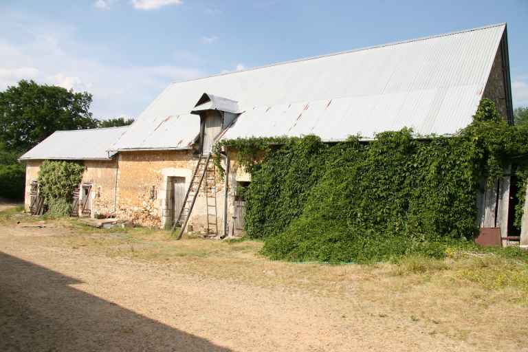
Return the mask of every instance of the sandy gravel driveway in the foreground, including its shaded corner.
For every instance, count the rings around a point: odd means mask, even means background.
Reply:
[[[0,228],[0,351],[476,351],[404,315],[41,243]]]

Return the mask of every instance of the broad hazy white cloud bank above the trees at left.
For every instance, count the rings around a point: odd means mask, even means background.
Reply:
[[[190,53],[186,62],[115,64],[105,59],[111,50],[78,40],[74,28],[28,17],[0,22],[0,30],[8,28],[17,38],[0,38],[0,91],[21,79],[86,90],[94,96],[91,111],[97,118],[137,116],[169,83],[206,75]]]

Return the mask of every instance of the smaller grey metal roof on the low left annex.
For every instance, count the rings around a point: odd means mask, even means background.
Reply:
[[[110,159],[108,150],[129,126],[107,129],[56,131],[20,157],[29,159],[99,160]]]

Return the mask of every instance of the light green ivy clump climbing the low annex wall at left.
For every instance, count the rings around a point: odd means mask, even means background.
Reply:
[[[72,194],[83,178],[85,167],[76,162],[45,160],[39,170],[39,188],[54,216],[69,214]]]

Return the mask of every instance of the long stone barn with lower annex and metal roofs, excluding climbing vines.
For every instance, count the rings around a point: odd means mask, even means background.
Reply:
[[[236,151],[222,153],[219,177],[210,157],[219,140],[369,140],[403,127],[456,135],[482,98],[513,123],[505,23],[173,83],[129,127],[57,132],[23,155],[26,208],[42,160],[76,159],[86,166],[80,197],[92,199],[85,214],[236,236],[244,213],[236,188],[251,179]],[[483,184],[481,228],[507,237],[510,190],[507,173],[496,187]]]

